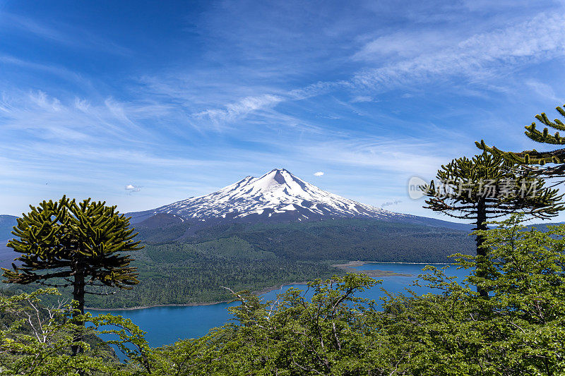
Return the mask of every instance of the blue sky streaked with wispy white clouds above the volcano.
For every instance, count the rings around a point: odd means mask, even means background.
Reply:
[[[0,0],[0,213],[63,193],[146,210],[285,167],[434,217],[408,198],[411,176],[482,138],[543,149],[523,126],[564,104],[564,11]]]

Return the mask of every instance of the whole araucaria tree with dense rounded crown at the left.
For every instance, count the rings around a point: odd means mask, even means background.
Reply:
[[[84,313],[87,286],[131,289],[138,284],[130,251],[141,249],[129,217],[105,202],[76,202],[65,196],[57,202],[43,201],[18,219],[8,243],[21,265],[5,269],[4,282],[73,286],[78,313]],[[73,349],[76,351],[76,349]]]

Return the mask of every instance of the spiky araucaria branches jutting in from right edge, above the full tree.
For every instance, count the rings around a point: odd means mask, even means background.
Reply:
[[[565,105],[564,105],[565,107]],[[556,107],[557,112],[565,118],[565,109],[563,107]],[[542,131],[538,131],[535,122],[529,126],[525,126],[525,135],[535,142],[540,142],[549,145],[565,145],[565,137],[559,134],[559,131],[565,131],[565,123],[559,119],[554,121],[549,120],[545,112],[536,115],[535,119],[540,121],[546,127]],[[549,134],[549,129],[557,132]],[[552,150],[550,152],[538,152],[537,150],[524,150],[523,152],[504,152],[494,146],[488,146],[484,140],[475,142],[475,145],[480,150],[490,152],[494,155],[503,157],[513,164],[520,164],[523,166],[545,166],[545,164],[558,164],[558,166],[549,166],[546,168],[533,169],[539,173],[549,176],[565,176],[565,148]],[[531,169],[531,168],[530,168]]]

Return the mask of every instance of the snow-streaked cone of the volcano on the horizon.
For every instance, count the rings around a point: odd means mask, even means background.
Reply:
[[[143,217],[160,213],[201,221],[260,218],[304,221],[322,217],[328,219],[409,217],[326,192],[297,178],[285,169],[273,169],[258,178],[247,176],[209,195],[188,198],[155,210],[148,210],[143,213],[145,214]]]

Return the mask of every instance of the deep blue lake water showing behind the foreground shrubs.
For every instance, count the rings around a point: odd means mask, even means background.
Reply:
[[[374,299],[379,301],[384,296],[381,288],[391,293],[400,293],[410,288],[419,294],[431,291],[426,287],[410,286],[412,281],[417,279],[418,274],[422,274],[422,264],[391,264],[381,262],[371,262],[357,269],[379,269],[388,270],[402,274],[411,274],[410,277],[391,276],[382,277],[382,284],[374,286],[364,293],[358,293],[357,296],[363,298]],[[446,265],[434,265],[435,267],[444,267]],[[448,267],[446,274],[458,277],[458,281],[462,281],[468,271],[465,269],[456,270],[455,266]],[[306,289],[305,285],[288,285],[283,289],[273,290],[263,297],[266,300],[273,300],[278,293],[282,293],[290,287],[297,289]],[[121,315],[131,319],[136,325],[148,332],[146,339],[151,346],[162,346],[172,344],[178,339],[195,338],[208,333],[213,327],[220,327],[230,320],[231,316],[227,312],[227,308],[238,303],[218,303],[211,305],[194,305],[181,307],[153,307],[138,310],[107,310],[103,313],[112,313],[113,315]],[[100,311],[90,311],[93,315],[97,315]]]

